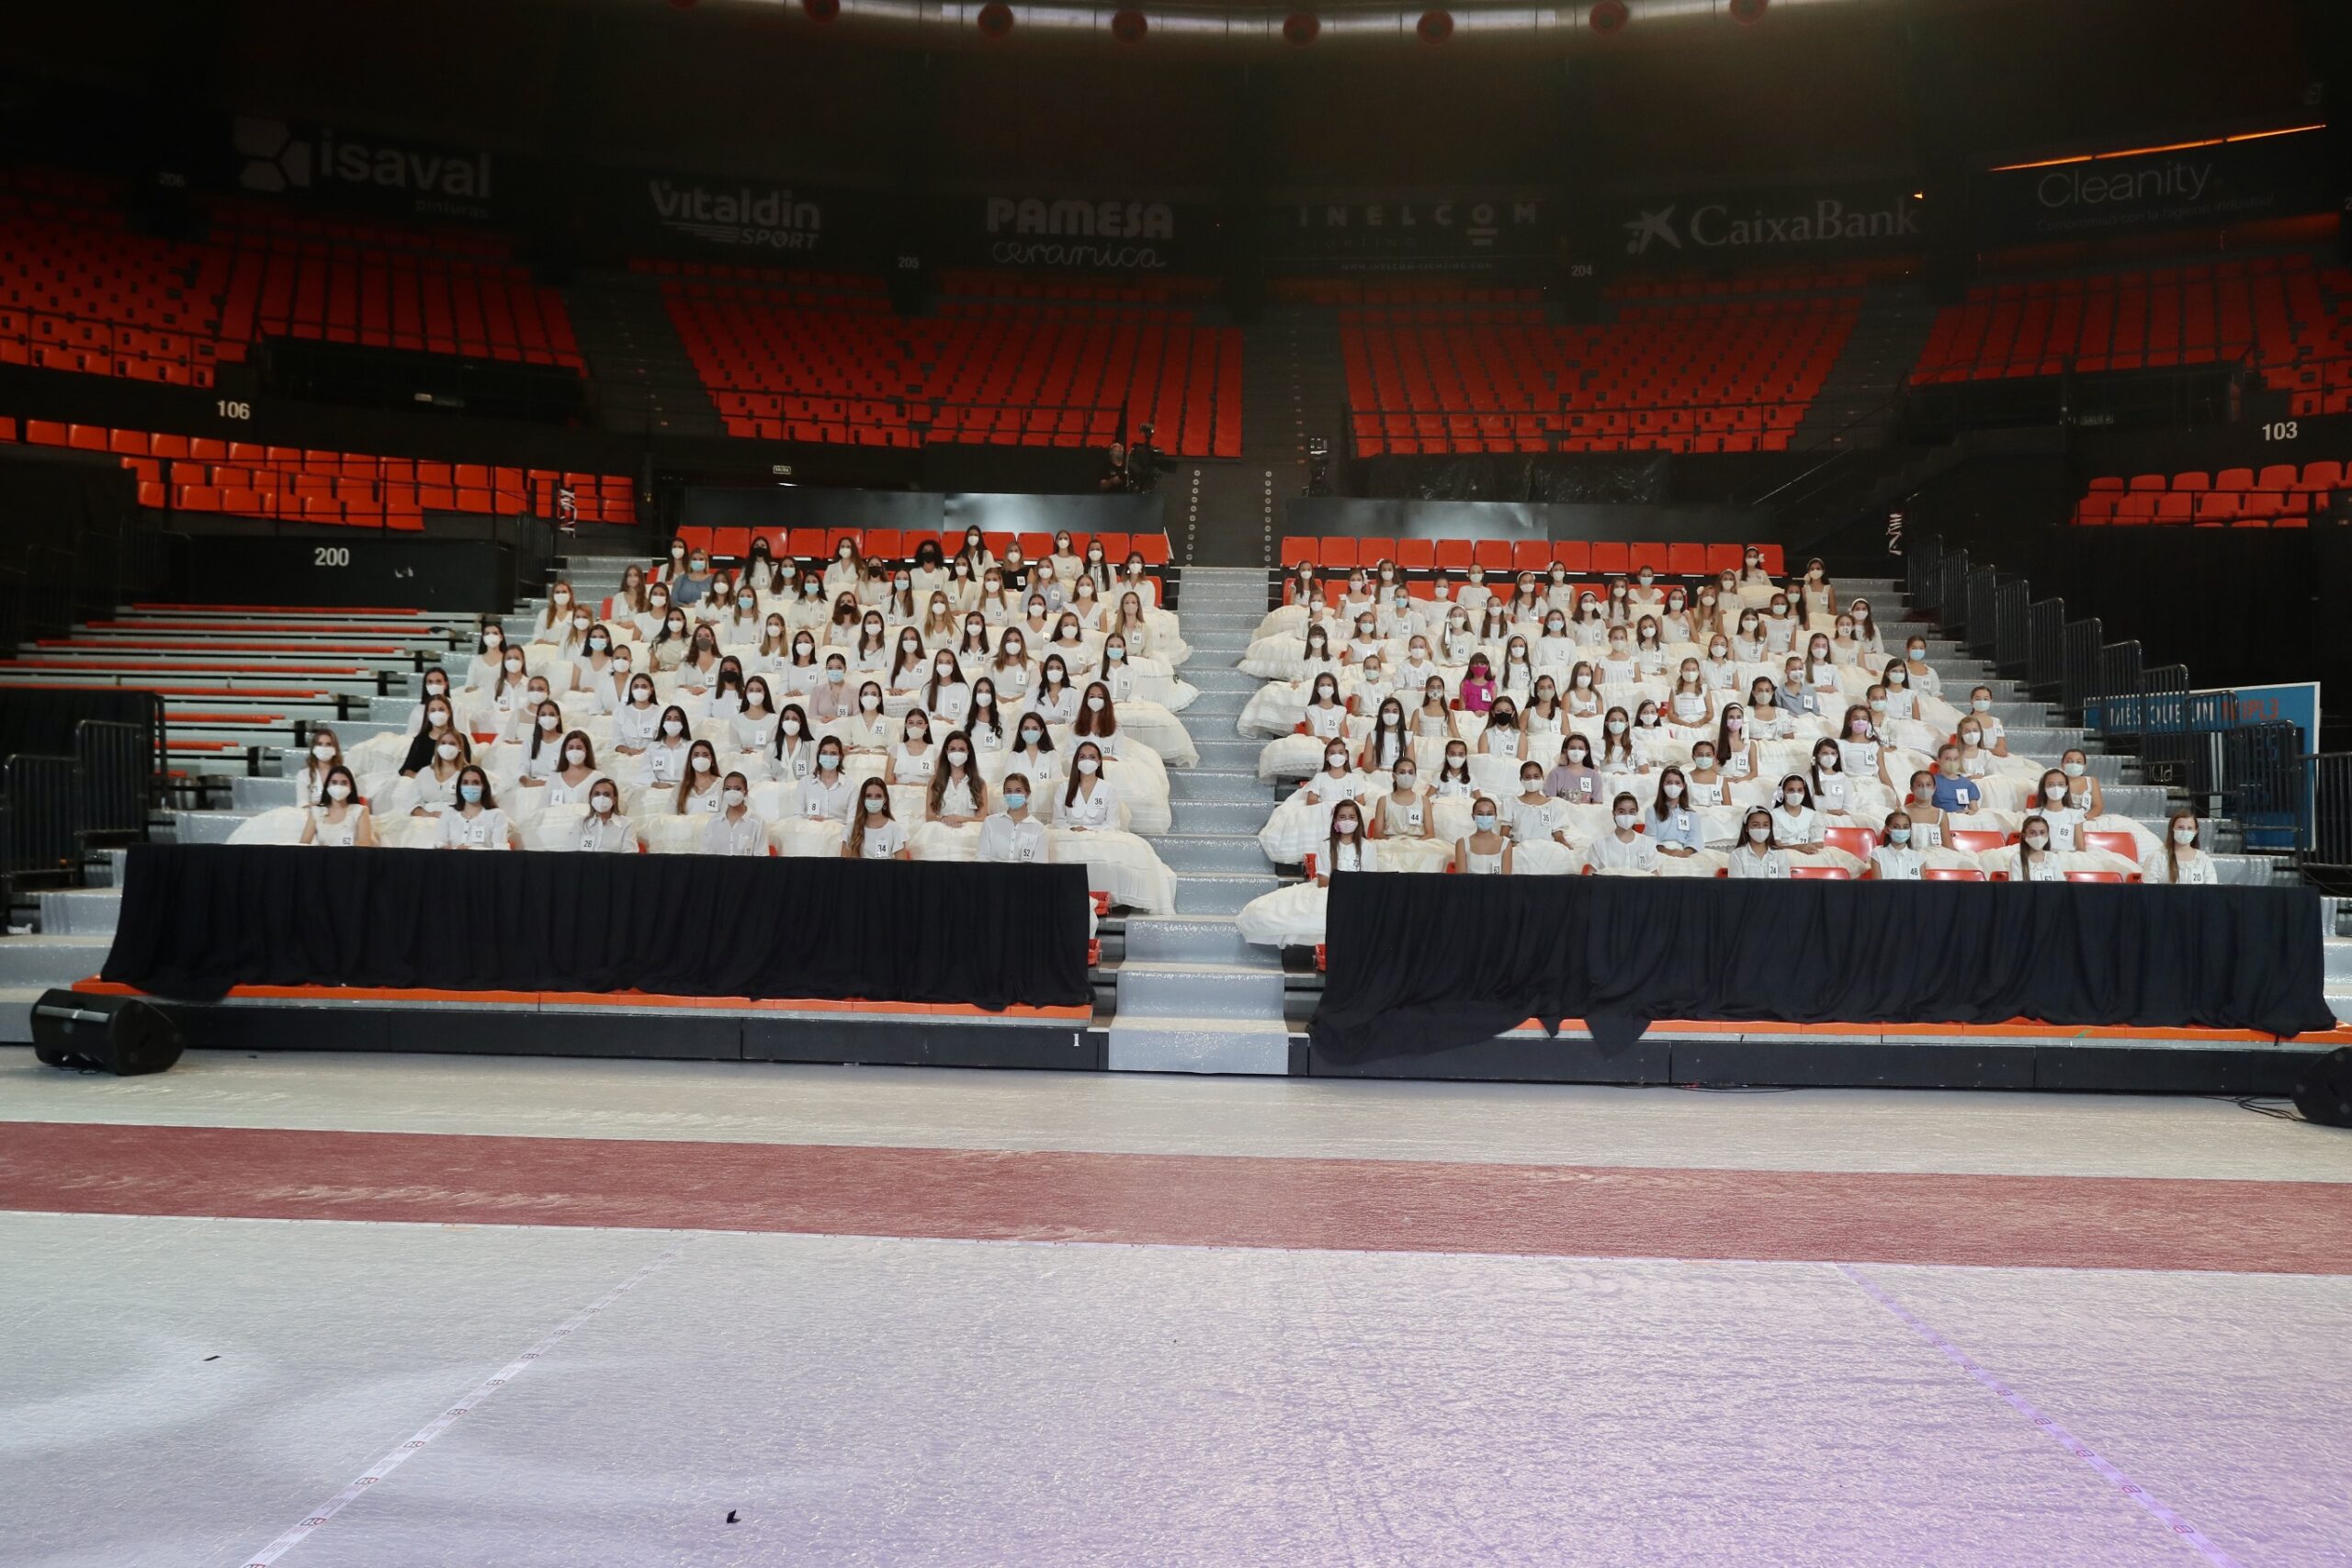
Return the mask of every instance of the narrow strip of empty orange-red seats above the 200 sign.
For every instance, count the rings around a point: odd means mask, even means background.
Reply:
[[[0,440],[12,437],[0,425]],[[557,494],[569,489],[579,522],[637,522],[626,475],[263,447],[47,418],[24,421],[24,442],[113,454],[139,475],[141,505],[179,512],[414,531],[426,512],[555,517]]]

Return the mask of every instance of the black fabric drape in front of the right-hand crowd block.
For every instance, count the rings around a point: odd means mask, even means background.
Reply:
[[[1536,1018],[2331,1030],[2319,896],[2270,886],[1334,877],[1315,1046],[1446,1051]]]

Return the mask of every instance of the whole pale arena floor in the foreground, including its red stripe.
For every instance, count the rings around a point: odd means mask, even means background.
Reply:
[[[7,1051],[0,1561],[2352,1563],[2347,1276],[2213,1100]]]

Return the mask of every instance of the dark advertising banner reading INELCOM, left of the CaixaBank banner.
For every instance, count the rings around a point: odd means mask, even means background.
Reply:
[[[1265,256],[1291,273],[1482,273],[1548,263],[1557,233],[1543,197],[1287,202],[1265,214]]]

